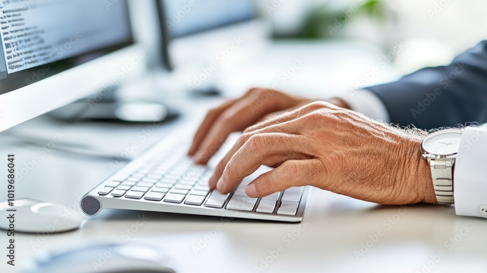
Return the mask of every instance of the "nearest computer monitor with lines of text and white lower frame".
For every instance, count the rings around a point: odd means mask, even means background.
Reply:
[[[0,132],[103,89],[140,61],[127,0],[0,3]]]

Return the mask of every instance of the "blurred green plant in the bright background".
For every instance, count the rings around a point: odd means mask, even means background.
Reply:
[[[311,12],[297,38],[331,38],[356,16],[382,21],[386,12],[383,0],[357,0],[341,10],[325,3]]]

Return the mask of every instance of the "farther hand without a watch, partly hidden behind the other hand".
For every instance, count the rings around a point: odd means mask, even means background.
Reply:
[[[251,89],[242,98],[230,100],[206,114],[188,155],[194,156],[197,164],[206,164],[230,133],[243,131],[259,120],[295,110],[313,101],[271,89]],[[330,99],[330,102],[346,107],[338,99]]]

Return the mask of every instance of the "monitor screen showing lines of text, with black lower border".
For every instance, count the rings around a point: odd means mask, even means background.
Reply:
[[[0,28],[0,95],[132,43],[124,0],[2,0]]]

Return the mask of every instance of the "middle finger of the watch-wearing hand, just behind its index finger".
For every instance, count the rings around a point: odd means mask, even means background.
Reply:
[[[287,134],[293,135],[293,134],[297,134],[300,128],[297,127],[297,126],[295,126],[292,123],[293,122],[288,121],[288,122],[284,122],[284,123],[280,123],[280,124],[275,124],[275,125],[267,126],[265,128],[262,128],[262,129],[259,129],[259,130],[256,130],[256,131],[252,131],[252,132],[249,132],[249,133],[244,133],[242,136],[239,137],[239,139],[237,140],[237,142],[235,142],[235,144],[233,145],[233,147],[230,150],[228,150],[228,152],[220,160],[220,162],[218,162],[215,170],[213,171],[213,175],[208,179],[208,186],[211,189],[216,188],[217,181],[220,178],[220,176],[222,176],[223,171],[225,169],[225,166],[228,164],[228,162],[230,161],[230,159],[232,158],[232,156],[242,146],[244,146],[244,144],[252,136],[254,136],[256,134],[269,134],[269,133],[281,134],[284,131],[286,132],[286,134],[282,134],[282,135],[287,135]],[[245,131],[247,131],[247,130],[245,130]],[[276,135],[276,136],[278,136],[278,135]],[[276,140],[276,141],[279,142],[279,140]],[[277,163],[280,163],[280,162],[277,162]]]

